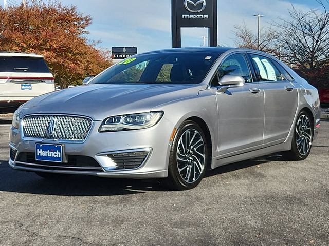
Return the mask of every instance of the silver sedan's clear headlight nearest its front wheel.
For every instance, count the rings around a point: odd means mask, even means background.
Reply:
[[[113,116],[105,119],[99,132],[116,132],[149,128],[157,124],[163,112]]]

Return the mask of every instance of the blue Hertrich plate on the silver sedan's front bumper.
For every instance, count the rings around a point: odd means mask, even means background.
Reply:
[[[35,145],[35,160],[62,162],[62,146],[36,144]]]

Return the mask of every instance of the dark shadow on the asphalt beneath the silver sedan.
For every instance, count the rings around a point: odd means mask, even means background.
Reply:
[[[223,174],[270,161],[281,160],[269,155],[218,167],[206,177]],[[63,175],[61,179],[47,180],[31,172],[13,170],[7,161],[0,160],[0,191],[61,196],[114,196],[166,191],[157,180],[109,179],[83,175]]]

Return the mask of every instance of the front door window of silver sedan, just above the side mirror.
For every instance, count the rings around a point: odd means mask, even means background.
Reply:
[[[231,55],[224,60],[218,68],[220,79],[225,75],[237,75],[245,79],[246,83],[252,82],[248,63],[244,54]]]

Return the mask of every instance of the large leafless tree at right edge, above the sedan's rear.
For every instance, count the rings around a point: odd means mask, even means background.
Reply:
[[[316,1],[322,11],[303,12],[293,6],[289,19],[275,23],[282,58],[304,75],[329,65],[329,12],[322,0]]]

